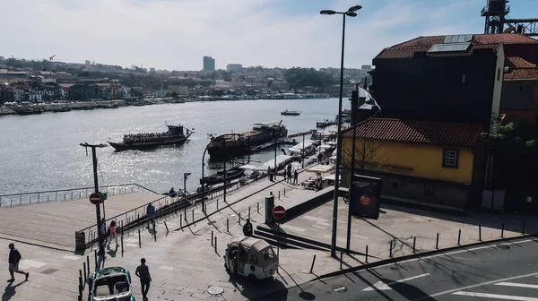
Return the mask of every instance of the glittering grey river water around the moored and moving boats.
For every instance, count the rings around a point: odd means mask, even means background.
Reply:
[[[349,107],[349,101],[344,100],[345,105]],[[298,109],[302,113],[281,116],[285,109]],[[86,156],[79,143],[121,141],[125,133],[164,132],[165,121],[194,128],[195,133],[181,146],[120,152],[112,147],[98,149],[100,185],[136,183],[168,192],[171,186],[182,188],[183,173],[189,172],[192,176],[187,180],[187,190],[192,190],[199,185],[208,133],[239,133],[257,122],[278,120],[286,125],[289,134],[306,132],[315,128],[317,121],[333,119],[337,113],[338,99],[294,99],[191,102],[0,116],[0,194],[92,186],[91,149]],[[288,147],[291,146],[284,148]],[[273,159],[273,154],[273,150],[264,150],[250,159],[264,163]],[[205,167],[207,175],[221,165],[210,163]]]

